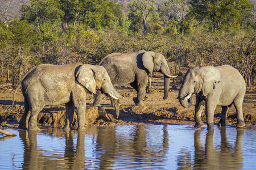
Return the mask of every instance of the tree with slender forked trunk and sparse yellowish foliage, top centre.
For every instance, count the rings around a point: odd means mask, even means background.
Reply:
[[[129,6],[131,8],[130,13],[136,13],[137,16],[139,15],[139,18],[142,18],[143,22],[143,35],[146,34],[147,29],[147,19],[148,16],[151,14],[152,11],[156,11],[157,8],[155,7],[155,1],[152,0],[136,0],[131,1],[129,3]]]

